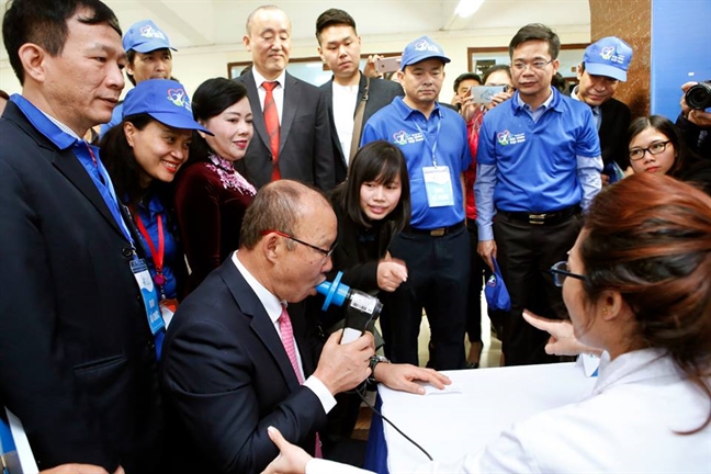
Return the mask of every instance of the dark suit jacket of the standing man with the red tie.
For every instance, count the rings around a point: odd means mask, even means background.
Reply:
[[[248,72],[236,79],[247,87],[252,110],[255,136],[245,158],[237,162],[250,182],[261,188],[271,180],[272,155],[255,76]],[[293,179],[330,191],[334,179],[334,155],[330,145],[328,110],[321,91],[286,72],[284,109],[279,136],[279,170]]]

